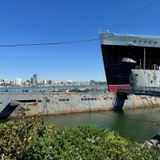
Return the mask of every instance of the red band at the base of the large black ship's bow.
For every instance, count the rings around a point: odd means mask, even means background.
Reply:
[[[109,92],[117,92],[120,89],[124,90],[130,90],[131,86],[129,84],[119,84],[119,85],[108,85],[108,91]]]

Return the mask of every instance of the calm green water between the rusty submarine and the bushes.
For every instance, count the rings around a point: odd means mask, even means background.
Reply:
[[[124,112],[92,112],[43,117],[56,128],[96,125],[118,132],[122,137],[144,142],[160,131],[160,109],[127,110]]]

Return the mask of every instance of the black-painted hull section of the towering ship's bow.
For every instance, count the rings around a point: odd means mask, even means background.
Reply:
[[[106,44],[101,45],[109,91],[123,89],[123,86],[125,86],[124,89],[127,89],[127,85],[128,89],[130,88],[129,75],[131,69],[143,68],[144,48],[146,51],[145,68],[152,69],[154,64],[160,65],[160,48]],[[136,63],[122,62],[124,57],[133,59]]]

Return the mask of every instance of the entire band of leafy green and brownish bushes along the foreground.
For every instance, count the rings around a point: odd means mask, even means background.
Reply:
[[[97,127],[55,130],[41,119],[0,124],[1,159],[156,160],[159,153]]]

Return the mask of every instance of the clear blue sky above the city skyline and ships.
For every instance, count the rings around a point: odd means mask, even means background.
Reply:
[[[0,45],[79,41],[99,33],[160,35],[159,0],[0,0]],[[0,47],[0,78],[106,80],[99,40]]]

